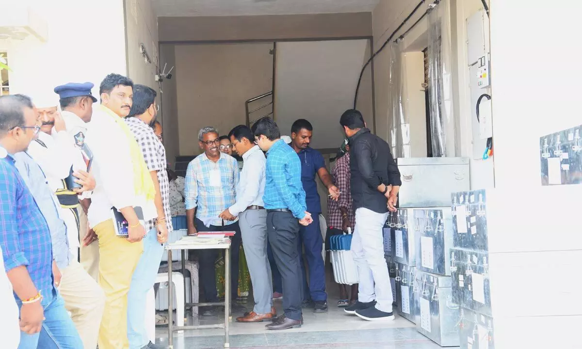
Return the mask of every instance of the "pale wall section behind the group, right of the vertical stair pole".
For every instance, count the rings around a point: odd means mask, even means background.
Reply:
[[[353,108],[366,46],[367,40],[277,43],[275,117],[282,134],[307,119],[314,129],[311,147],[339,148],[345,138],[339,118]],[[365,121],[371,128],[370,114]]]

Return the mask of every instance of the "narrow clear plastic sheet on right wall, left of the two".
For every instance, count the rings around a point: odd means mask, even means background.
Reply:
[[[390,54],[388,103],[391,151],[395,158],[410,158],[410,122],[406,112],[407,100],[403,99],[406,69],[401,45],[391,44]]]

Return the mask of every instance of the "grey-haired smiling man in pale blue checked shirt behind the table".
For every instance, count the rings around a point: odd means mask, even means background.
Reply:
[[[223,220],[219,215],[235,203],[236,186],[239,183],[239,166],[235,158],[219,151],[220,138],[214,127],[204,127],[198,132],[198,145],[203,154],[194,158],[186,170],[186,220],[188,234],[201,232],[234,231],[230,244],[230,297],[236,299],[239,285],[240,229],[238,219]],[[217,250],[200,250],[200,283],[204,290],[205,302],[218,302],[214,263]],[[226,281],[228,282],[228,280]],[[229,295],[225,294],[225,297]],[[246,309],[231,302],[232,312]],[[209,307],[203,316],[217,314],[215,307]]]

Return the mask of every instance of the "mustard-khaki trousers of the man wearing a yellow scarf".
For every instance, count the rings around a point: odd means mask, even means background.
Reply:
[[[116,236],[111,219],[99,223],[93,230],[99,238],[99,284],[105,292],[99,349],[128,349],[127,293],[143,243],[129,243]]]

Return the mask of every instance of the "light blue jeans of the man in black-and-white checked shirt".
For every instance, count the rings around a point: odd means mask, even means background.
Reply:
[[[130,349],[141,349],[150,343],[145,329],[145,298],[158,276],[164,247],[158,243],[158,231],[152,229],[143,238],[144,252],[133,272],[127,293],[127,340]]]

